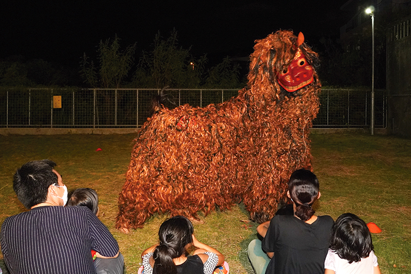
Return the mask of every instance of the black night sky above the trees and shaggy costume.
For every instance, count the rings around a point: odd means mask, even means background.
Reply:
[[[22,55],[78,67],[83,52],[92,56],[100,40],[137,43],[149,50],[157,31],[175,28],[179,45],[210,60],[246,57],[254,40],[278,29],[302,31],[315,46],[322,36],[338,38],[346,22],[346,0],[287,1],[21,1],[0,4],[0,59]]]

